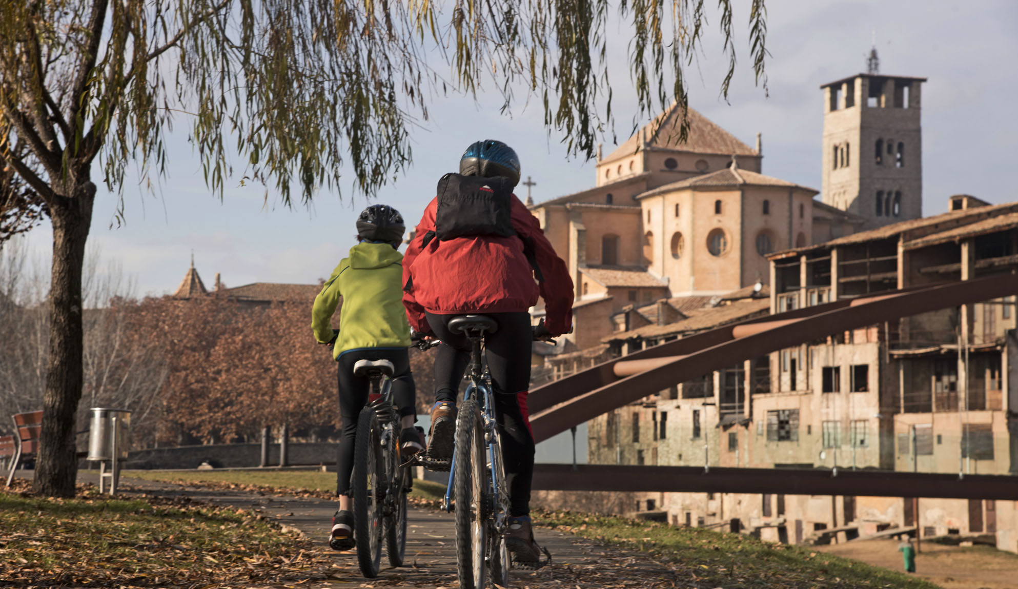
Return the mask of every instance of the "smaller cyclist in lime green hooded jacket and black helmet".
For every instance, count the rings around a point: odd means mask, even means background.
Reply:
[[[392,394],[402,417],[400,448],[408,457],[423,450],[421,434],[413,426],[416,402],[407,348],[410,327],[403,307],[403,254],[397,251],[403,239],[403,218],[385,204],[365,209],[357,219],[357,244],[350,248],[315,298],[312,328],[320,344],[333,347],[339,364],[339,410],[343,419],[336,473],[339,511],[332,519],[329,546],[348,550],[354,546],[353,514],[350,511],[350,474],[357,416],[367,402],[371,384],[355,376],[358,360],[389,360],[394,366]],[[340,298],[339,333],[330,319]]]

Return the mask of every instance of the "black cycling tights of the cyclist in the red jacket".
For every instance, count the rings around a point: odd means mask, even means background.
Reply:
[[[499,329],[485,337],[488,369],[495,389],[495,417],[502,433],[502,456],[509,483],[510,515],[530,513],[533,478],[533,435],[526,412],[530,387],[530,315],[525,311],[484,313]],[[470,344],[463,334],[453,334],[447,322],[458,315],[428,313],[428,323],[442,340],[435,358],[435,400],[455,401],[463,372],[470,363]]]

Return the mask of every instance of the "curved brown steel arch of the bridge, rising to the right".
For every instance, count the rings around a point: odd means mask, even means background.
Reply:
[[[1016,293],[1018,275],[998,275],[881,293],[869,299],[836,301],[768,315],[662,344],[535,389],[530,402],[533,437],[535,441],[543,441],[574,425],[646,397],[652,392],[692,380],[747,358],[831,334]],[[745,334],[744,337],[735,337],[736,330],[754,323],[772,326],[760,331],[740,330],[740,335]],[[620,362],[663,356],[680,357],[631,376],[618,377],[615,374],[615,367]],[[553,387],[556,385],[557,387]]]

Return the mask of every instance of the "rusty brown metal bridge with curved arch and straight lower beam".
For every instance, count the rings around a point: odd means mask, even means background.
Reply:
[[[536,441],[704,372],[824,339],[832,334],[1018,293],[1018,275],[1001,274],[842,299],[746,320],[609,360],[534,389]],[[770,492],[1018,499],[1018,476],[900,471],[536,465],[534,489]]]

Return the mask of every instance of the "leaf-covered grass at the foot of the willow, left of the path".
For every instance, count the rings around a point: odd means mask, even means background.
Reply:
[[[0,492],[0,579],[41,587],[245,587],[325,579],[310,542],[264,518],[186,500]],[[20,490],[20,489],[18,489]]]

